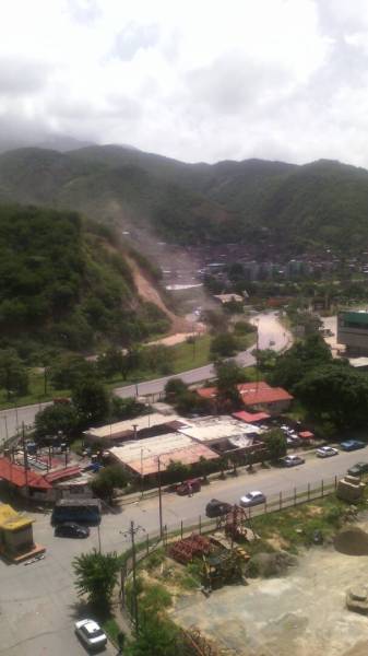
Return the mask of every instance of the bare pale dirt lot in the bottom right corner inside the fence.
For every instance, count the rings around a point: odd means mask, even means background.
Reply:
[[[367,555],[314,547],[286,577],[228,586],[209,599],[195,593],[178,599],[173,614],[242,656],[363,656],[368,618],[345,608],[346,589],[359,584],[368,584]]]

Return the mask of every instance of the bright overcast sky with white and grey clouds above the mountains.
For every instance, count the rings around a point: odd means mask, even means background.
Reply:
[[[0,0],[0,131],[368,167],[368,0]]]

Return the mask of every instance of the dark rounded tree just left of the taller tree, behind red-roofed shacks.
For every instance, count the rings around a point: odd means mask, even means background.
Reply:
[[[43,440],[57,435],[59,431],[71,437],[78,425],[78,415],[72,403],[54,403],[37,412],[35,417],[35,436]]]

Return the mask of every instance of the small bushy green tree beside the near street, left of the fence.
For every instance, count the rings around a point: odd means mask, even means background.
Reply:
[[[82,553],[72,561],[80,597],[86,595],[88,601],[100,609],[109,608],[114,587],[117,583],[120,563],[116,553]]]

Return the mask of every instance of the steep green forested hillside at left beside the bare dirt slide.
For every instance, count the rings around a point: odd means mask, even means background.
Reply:
[[[167,329],[103,234],[74,212],[0,207],[0,348],[88,352]]]

